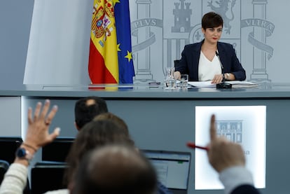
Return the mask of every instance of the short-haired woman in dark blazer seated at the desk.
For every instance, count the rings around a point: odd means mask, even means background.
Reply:
[[[202,33],[205,36],[200,43],[186,45],[181,60],[175,67],[174,78],[188,74],[189,81],[244,81],[246,71],[235,55],[233,46],[219,42],[223,31],[221,15],[209,12],[202,17]]]

